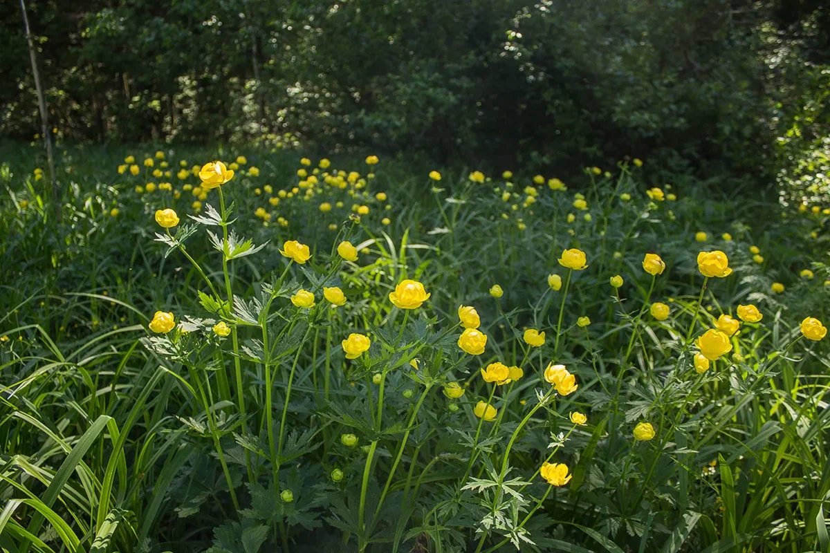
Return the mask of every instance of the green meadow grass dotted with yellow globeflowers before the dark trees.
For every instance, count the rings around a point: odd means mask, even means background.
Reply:
[[[59,153],[60,225],[0,145],[3,551],[828,551],[826,206]]]

